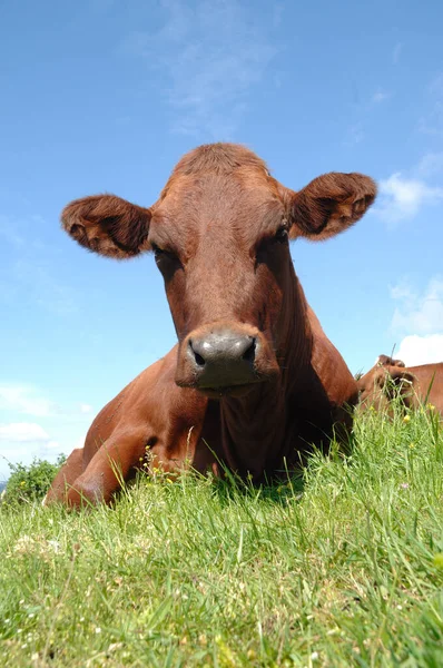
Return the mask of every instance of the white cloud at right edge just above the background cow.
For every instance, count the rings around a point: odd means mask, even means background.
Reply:
[[[400,283],[391,288],[391,296],[400,302],[391,323],[393,332],[415,336],[443,334],[442,277],[432,278],[423,293]]]

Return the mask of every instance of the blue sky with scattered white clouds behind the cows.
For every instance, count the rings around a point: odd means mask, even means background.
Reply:
[[[0,27],[0,452],[78,446],[95,414],[175,342],[151,256],[88,254],[70,199],[149,206],[178,158],[246,144],[297,189],[380,184],[373,210],[295,268],[353,372],[443,358],[443,4],[405,0],[41,0]],[[0,480],[8,474],[0,456]]]

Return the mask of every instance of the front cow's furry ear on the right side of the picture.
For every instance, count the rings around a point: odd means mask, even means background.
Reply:
[[[363,174],[331,171],[291,197],[291,238],[327,239],[361,218],[375,199],[375,181]]]

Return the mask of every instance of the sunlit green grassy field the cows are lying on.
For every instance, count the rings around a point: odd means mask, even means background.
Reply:
[[[443,431],[360,418],[352,458],[112,509],[0,509],[0,665],[443,666]]]

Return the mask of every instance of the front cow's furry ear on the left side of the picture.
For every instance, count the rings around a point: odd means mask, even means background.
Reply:
[[[115,195],[75,199],[61,213],[66,232],[99,255],[126,259],[150,250],[151,212]]]

